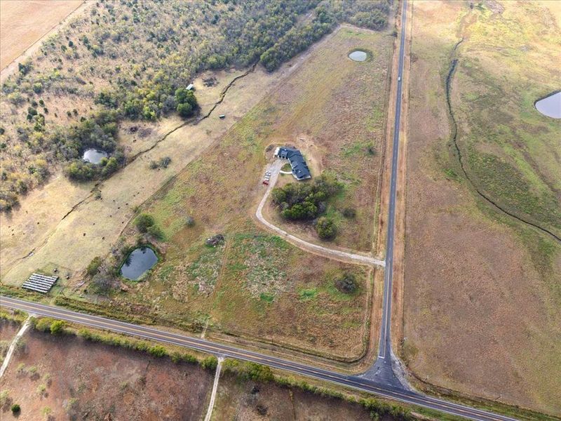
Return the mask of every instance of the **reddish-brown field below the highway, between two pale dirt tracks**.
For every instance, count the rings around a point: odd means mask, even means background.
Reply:
[[[2,420],[200,420],[212,376],[199,366],[30,330],[0,387]]]

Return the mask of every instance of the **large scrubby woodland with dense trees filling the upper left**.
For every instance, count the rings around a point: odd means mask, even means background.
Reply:
[[[259,60],[273,70],[338,22],[379,29],[389,11],[390,1],[363,0],[98,1],[2,83],[0,209],[60,163],[71,161],[75,180],[115,171],[118,154],[93,166],[81,162],[83,147],[111,152],[121,119],[192,116],[196,98],[184,86],[198,72]],[[86,119],[79,105],[110,113],[109,126],[74,126]]]

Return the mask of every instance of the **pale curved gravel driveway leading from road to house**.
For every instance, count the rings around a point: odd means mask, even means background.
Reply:
[[[277,234],[280,234],[280,236],[282,236],[283,239],[285,239],[286,241],[294,244],[298,248],[302,248],[302,250],[309,251],[310,253],[316,253],[325,258],[332,258],[334,260],[342,260],[344,262],[358,263],[359,265],[374,265],[379,267],[385,267],[386,262],[384,262],[384,260],[378,260],[372,258],[371,256],[359,255],[356,253],[347,253],[346,251],[342,251],[342,250],[333,250],[332,248],[327,248],[323,246],[318,246],[317,244],[309,243],[308,241],[299,239],[297,236],[288,234],[288,232],[284,231],[283,229],[280,229],[276,225],[271,224],[271,222],[263,218],[263,206],[265,206],[265,203],[269,198],[269,195],[271,194],[273,187],[275,187],[276,180],[278,179],[278,174],[280,172],[280,168],[283,166],[283,163],[284,163],[283,161],[277,159],[268,168],[269,171],[271,171],[271,182],[269,184],[269,187],[266,189],[266,192],[263,195],[263,199],[261,199],[259,206],[257,206],[257,212],[255,213],[255,216],[257,217],[259,222],[261,222],[263,225],[273,230]]]

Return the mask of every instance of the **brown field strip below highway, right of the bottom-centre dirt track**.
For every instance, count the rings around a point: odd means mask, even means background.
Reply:
[[[368,410],[356,403],[313,396],[295,387],[240,380],[225,373],[220,377],[211,420],[367,421],[372,418]]]

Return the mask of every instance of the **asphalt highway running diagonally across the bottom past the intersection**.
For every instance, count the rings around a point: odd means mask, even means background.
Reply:
[[[263,364],[264,366],[286,370],[297,375],[313,377],[318,380],[332,382],[336,385],[351,387],[363,392],[377,394],[378,396],[382,396],[384,398],[411,403],[413,405],[422,406],[424,408],[431,408],[442,413],[466,417],[471,420],[514,420],[514,418],[511,417],[489,413],[485,410],[476,408],[470,408],[458,403],[442,401],[440,399],[433,398],[432,396],[425,396],[417,392],[410,392],[403,389],[393,388],[388,385],[381,385],[364,377],[337,373],[336,371],[316,368],[313,366],[308,366],[304,363],[288,361],[285,359],[277,358],[275,356],[269,356],[260,354],[259,352],[252,352],[246,349],[231,347],[229,345],[223,345],[217,342],[203,340],[201,338],[193,338],[187,335],[180,335],[178,333],[170,333],[161,329],[139,326],[123,321],[105,319],[104,317],[100,316],[73,312],[67,309],[62,309],[60,307],[43,305],[36,302],[27,302],[24,300],[18,300],[15,298],[4,296],[0,296],[0,306],[19,309],[34,316],[52,317],[54,319],[65,320],[70,323],[78,323],[83,326],[89,326],[90,328],[110,330],[112,332],[133,335],[138,338],[147,340],[165,342],[172,345],[178,345],[180,347],[196,349],[201,352],[206,352],[215,356],[222,356],[224,358],[251,361],[253,363]]]

